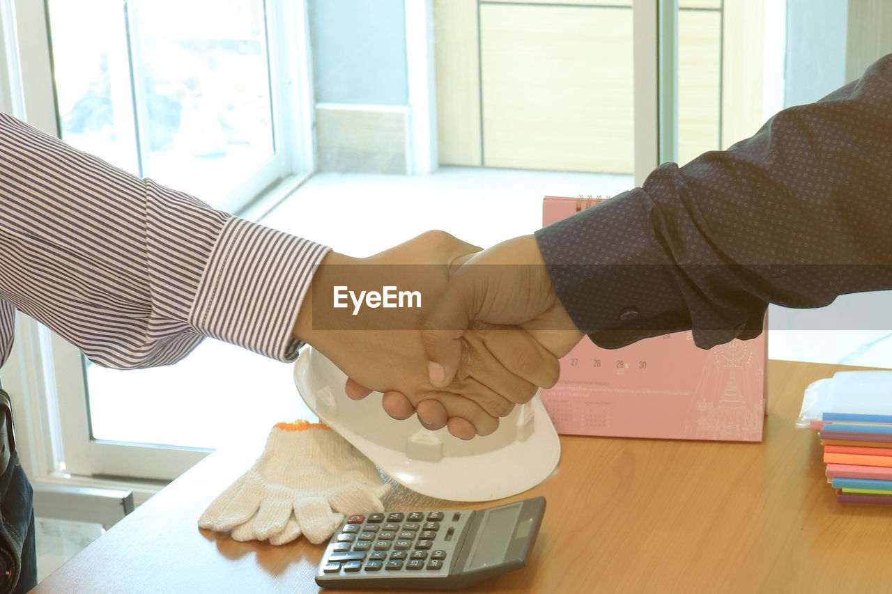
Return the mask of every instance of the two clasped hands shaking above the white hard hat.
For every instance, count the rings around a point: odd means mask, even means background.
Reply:
[[[469,440],[558,381],[582,333],[551,285],[533,235],[488,250],[428,231],[368,258],[330,252],[293,337],[341,367],[354,400]]]

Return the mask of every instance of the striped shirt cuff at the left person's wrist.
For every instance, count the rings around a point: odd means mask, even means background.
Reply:
[[[245,219],[228,219],[189,323],[202,334],[280,361],[297,359],[294,322],[329,248]]]

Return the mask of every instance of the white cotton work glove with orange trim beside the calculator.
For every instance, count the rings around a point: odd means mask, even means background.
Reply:
[[[211,502],[198,525],[235,540],[327,540],[346,514],[384,511],[391,486],[371,460],[326,425],[279,423],[254,466]]]

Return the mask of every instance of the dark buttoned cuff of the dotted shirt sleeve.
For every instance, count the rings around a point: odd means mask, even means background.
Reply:
[[[656,215],[637,188],[536,232],[558,299],[600,347],[691,327]]]

